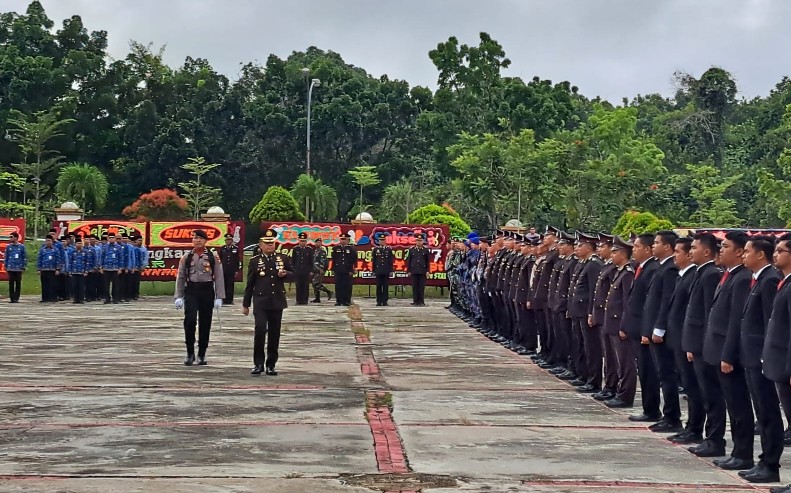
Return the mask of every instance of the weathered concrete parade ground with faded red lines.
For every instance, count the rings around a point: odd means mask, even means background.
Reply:
[[[292,306],[278,376],[250,375],[239,303],[222,331],[215,317],[205,367],[182,365],[169,298],[4,303],[0,492],[768,489],[629,422],[638,408],[578,394],[446,302]]]

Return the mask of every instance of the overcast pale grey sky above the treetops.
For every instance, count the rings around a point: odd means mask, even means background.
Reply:
[[[23,12],[27,0],[0,0]],[[333,50],[370,74],[435,87],[428,51],[449,36],[505,48],[508,75],[568,80],[589,97],[672,95],[677,70],[730,71],[744,97],[791,75],[791,0],[43,0],[57,26],[74,14],[129,41],[167,45],[166,61],[208,59],[231,78],[240,64]]]

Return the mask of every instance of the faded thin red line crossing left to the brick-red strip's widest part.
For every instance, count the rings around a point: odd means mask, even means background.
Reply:
[[[0,425],[0,430],[19,429],[80,429],[80,428],[228,428],[232,426],[366,426],[356,422],[320,422],[320,421],[94,421],[90,423],[38,423],[24,422]]]

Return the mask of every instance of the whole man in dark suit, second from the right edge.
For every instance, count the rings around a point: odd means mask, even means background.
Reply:
[[[774,382],[763,374],[761,361],[780,282],[780,274],[772,267],[774,250],[775,239],[771,236],[753,236],[744,249],[744,266],[752,272],[752,279],[741,317],[739,360],[747,374],[747,387],[758,419],[761,454],[758,464],[749,471],[739,471],[739,476],[751,483],[780,481],[780,456],[783,455],[780,400]]]

